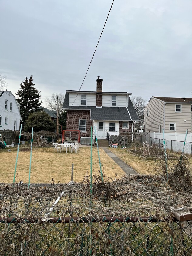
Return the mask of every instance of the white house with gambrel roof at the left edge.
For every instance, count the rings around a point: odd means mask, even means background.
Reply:
[[[20,104],[10,91],[0,91],[0,130],[19,130]]]

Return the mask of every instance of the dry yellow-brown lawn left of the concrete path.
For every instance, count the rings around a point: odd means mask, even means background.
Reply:
[[[0,182],[13,182],[17,147],[0,150]],[[25,151],[26,150],[26,151]],[[106,176],[115,178],[122,177],[124,171],[102,150],[99,149],[102,170]],[[20,145],[17,162],[16,181],[23,180],[28,183],[30,162],[30,145]],[[49,183],[52,178],[55,182],[69,182],[71,179],[71,167],[74,163],[73,180],[81,182],[85,175],[90,174],[90,147],[80,147],[79,153],[54,153],[54,148],[33,147],[31,164],[31,183]],[[99,162],[97,149],[93,147],[92,157],[93,174],[98,173]]]

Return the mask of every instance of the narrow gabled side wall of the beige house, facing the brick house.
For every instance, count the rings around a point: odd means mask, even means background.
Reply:
[[[151,97],[144,109],[145,131],[162,132],[164,128],[164,102]],[[161,130],[160,130],[161,127]]]

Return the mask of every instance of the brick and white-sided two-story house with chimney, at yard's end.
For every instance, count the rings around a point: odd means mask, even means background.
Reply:
[[[81,137],[90,137],[91,126],[95,126],[99,139],[105,139],[107,133],[134,131],[138,116],[129,97],[131,93],[103,92],[102,81],[98,76],[96,91],[66,91],[66,130],[80,130]]]

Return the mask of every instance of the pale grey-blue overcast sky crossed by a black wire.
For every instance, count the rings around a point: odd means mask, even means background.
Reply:
[[[44,100],[79,90],[112,0],[0,0],[0,73]],[[192,97],[192,1],[115,0],[81,90]]]

